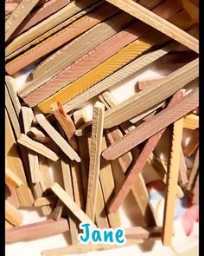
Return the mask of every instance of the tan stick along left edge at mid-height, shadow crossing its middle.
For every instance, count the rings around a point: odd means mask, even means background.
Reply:
[[[5,155],[6,155],[6,167],[10,168],[21,179],[23,185],[16,188],[16,193],[22,207],[31,207],[34,202],[33,194],[31,193],[24,169],[22,167],[22,161],[18,153],[16,140],[10,126],[10,120],[7,112],[5,111]]]

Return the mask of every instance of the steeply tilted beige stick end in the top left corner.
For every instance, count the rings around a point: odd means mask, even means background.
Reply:
[[[11,13],[5,23],[5,41],[7,41],[16,28],[22,23],[23,19],[35,7],[39,0],[22,0]]]

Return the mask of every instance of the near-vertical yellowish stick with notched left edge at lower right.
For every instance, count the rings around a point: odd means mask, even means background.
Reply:
[[[169,173],[167,178],[167,193],[165,198],[163,214],[163,246],[171,245],[173,234],[173,223],[175,216],[175,196],[178,183],[181,145],[182,145],[183,118],[175,121],[172,136],[171,158],[169,164]]]

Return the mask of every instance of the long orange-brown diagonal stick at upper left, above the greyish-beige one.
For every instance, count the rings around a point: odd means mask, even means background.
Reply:
[[[29,49],[22,56],[17,56],[14,61],[6,64],[7,72],[12,75],[20,69],[28,66],[30,63],[35,62],[42,56],[46,56],[54,49],[58,49],[65,43],[71,41],[76,36],[84,33],[86,30],[91,29],[96,24],[105,20],[119,10],[110,3],[102,3],[95,9],[91,10],[85,16],[71,23],[66,28],[55,33],[53,36],[49,36],[47,40],[37,44],[33,48]]]

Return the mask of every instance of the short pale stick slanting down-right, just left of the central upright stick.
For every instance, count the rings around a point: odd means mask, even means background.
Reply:
[[[69,146],[67,141],[54,129],[54,127],[49,123],[46,117],[42,114],[35,115],[36,120],[41,125],[48,135],[54,140],[54,142],[61,148],[61,150],[67,154],[71,160],[80,162],[80,156]]]

